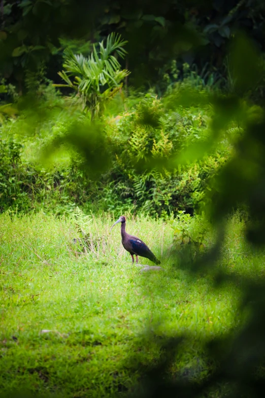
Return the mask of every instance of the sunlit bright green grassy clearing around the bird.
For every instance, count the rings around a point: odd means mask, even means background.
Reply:
[[[164,268],[141,274],[121,246],[119,226],[109,233],[112,222],[91,219],[91,250],[79,253],[70,219],[0,216],[1,391],[123,395],[141,377],[132,358],[142,366],[159,358],[154,333],[193,335],[173,374],[209,373],[200,342],[240,322],[239,290],[229,284],[215,290],[211,277],[178,269],[168,250],[170,226],[140,217],[128,220],[127,230],[146,241]],[[231,220],[220,266],[262,275],[263,260],[249,252],[242,225]]]

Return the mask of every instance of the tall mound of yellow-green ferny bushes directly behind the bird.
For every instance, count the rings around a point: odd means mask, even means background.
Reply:
[[[117,147],[115,167],[107,175],[110,185],[104,191],[105,208],[120,208],[126,199],[127,206],[137,201],[138,209],[153,216],[176,214],[180,209],[192,211],[202,203],[210,178],[221,169],[230,151],[224,144],[193,164],[162,170],[154,164],[151,170],[139,170],[143,160],[169,158],[207,135],[205,114],[181,107],[164,113],[161,101],[151,95],[140,100],[134,112],[124,113],[109,125],[108,134],[115,138]]]

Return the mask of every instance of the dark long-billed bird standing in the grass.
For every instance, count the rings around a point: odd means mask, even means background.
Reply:
[[[121,233],[121,243],[127,252],[131,255],[132,264],[134,264],[134,255],[136,255],[136,263],[138,263],[138,256],[148,258],[149,260],[153,261],[155,264],[160,264],[160,261],[157,260],[155,255],[151,252],[151,250],[146,246],[146,244],[139,238],[133,235],[129,235],[125,231],[126,219],[124,216],[121,216],[119,220],[116,221],[114,225],[121,223],[120,226],[120,233]]]

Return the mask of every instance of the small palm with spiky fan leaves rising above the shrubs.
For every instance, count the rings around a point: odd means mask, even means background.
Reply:
[[[106,102],[113,98],[122,87],[122,80],[129,71],[121,70],[116,55],[124,58],[126,51],[123,46],[127,42],[120,35],[112,33],[107,38],[106,48],[103,41],[99,43],[97,52],[95,45],[88,58],[82,54],[74,54],[70,49],[64,51],[65,62],[59,76],[67,84],[54,84],[56,87],[71,87],[76,91],[75,98],[82,100],[83,109],[91,111],[91,119],[100,114]],[[74,76],[74,80],[70,79]]]

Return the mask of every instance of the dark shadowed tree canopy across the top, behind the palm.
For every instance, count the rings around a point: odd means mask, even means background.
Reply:
[[[143,0],[85,2],[1,1],[0,73],[24,87],[25,69],[47,66],[56,80],[63,46],[59,38],[98,42],[111,32],[128,41],[124,68],[131,84],[157,82],[172,59],[224,75],[227,44],[237,29],[264,49],[264,3],[258,0]]]

